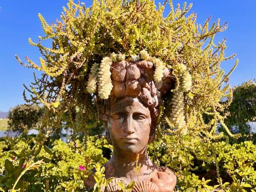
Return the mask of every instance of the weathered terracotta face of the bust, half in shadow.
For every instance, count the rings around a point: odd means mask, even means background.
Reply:
[[[125,97],[112,105],[108,119],[110,140],[119,152],[145,151],[150,137],[150,111],[137,98]]]

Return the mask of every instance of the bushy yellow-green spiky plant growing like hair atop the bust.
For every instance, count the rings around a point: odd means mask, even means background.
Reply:
[[[29,64],[26,65],[17,57],[22,65],[42,71],[42,77],[35,78],[30,90],[34,96],[26,98],[27,101],[40,101],[49,109],[59,112],[59,117],[61,112],[71,111],[75,105],[84,106],[81,108],[84,109],[86,118],[83,124],[86,125],[99,116],[97,102],[93,100],[95,97],[86,90],[92,64],[100,63],[102,58],[110,56],[112,52],[132,57],[146,50],[150,56],[160,59],[168,68],[173,69],[176,90],[179,90],[180,84],[185,91],[190,89],[184,94],[184,114],[181,114],[186,121],[188,133],[216,138],[216,124],[223,122],[225,115],[221,113],[230,104],[219,102],[229,90],[229,85],[221,88],[222,82],[235,67],[224,76],[220,63],[235,55],[224,56],[225,40],[214,44],[214,36],[226,30],[227,25],[221,25],[218,20],[209,26],[210,19],[203,25],[197,24],[196,14],[188,13],[192,4],[186,6],[185,3],[182,8],[178,4],[174,8],[170,0],[169,5],[171,11],[166,18],[163,17],[165,5],[157,8],[153,0],[94,0],[90,8],[69,0],[68,8],[63,8],[61,20],[56,24],[48,24],[39,14],[45,34],[39,37],[39,43],[31,39],[29,43],[38,47],[42,53],[40,65],[28,57],[26,60]],[[51,40],[52,47],[44,47],[44,40]],[[124,55],[116,56],[119,60],[124,59]],[[149,55],[141,53],[141,56],[146,59]],[[184,69],[176,71],[178,65]],[[158,69],[159,66],[156,67]],[[190,79],[188,74],[192,78],[191,87],[190,83],[186,83]],[[101,82],[99,86],[104,83]],[[106,89],[110,87],[108,84]],[[99,89],[100,97],[106,99],[109,90],[103,90],[102,87]],[[230,100],[231,95],[232,91]],[[51,103],[58,102],[58,99],[60,105],[53,107]],[[169,94],[164,101],[163,115],[166,120],[169,119],[169,125],[175,124],[170,122],[172,112],[168,105],[171,105],[171,99],[172,94]],[[205,122],[203,115],[208,115],[209,121]],[[180,124],[176,124],[179,127]]]

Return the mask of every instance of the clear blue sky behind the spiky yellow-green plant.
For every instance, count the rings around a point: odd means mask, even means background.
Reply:
[[[81,0],[82,1],[82,0]],[[0,1],[0,111],[24,103],[23,83],[30,85],[33,81],[32,69],[19,65],[14,57],[22,60],[28,55],[38,61],[40,53],[28,44],[28,38],[35,42],[43,36],[38,13],[47,22],[55,22],[66,6],[68,0],[1,0]],[[157,2],[164,2],[157,1]],[[226,56],[237,53],[239,65],[230,77],[231,86],[256,78],[256,1],[255,0],[188,0],[193,3],[192,12],[197,13],[197,22],[203,24],[212,16],[212,21],[220,18],[221,23],[228,22],[228,29],[216,37],[216,41],[227,38]],[[184,0],[174,0],[174,5]],[[91,0],[86,1],[90,6]],[[168,14],[169,8],[164,14]],[[228,72],[234,64],[232,61],[222,63]]]

